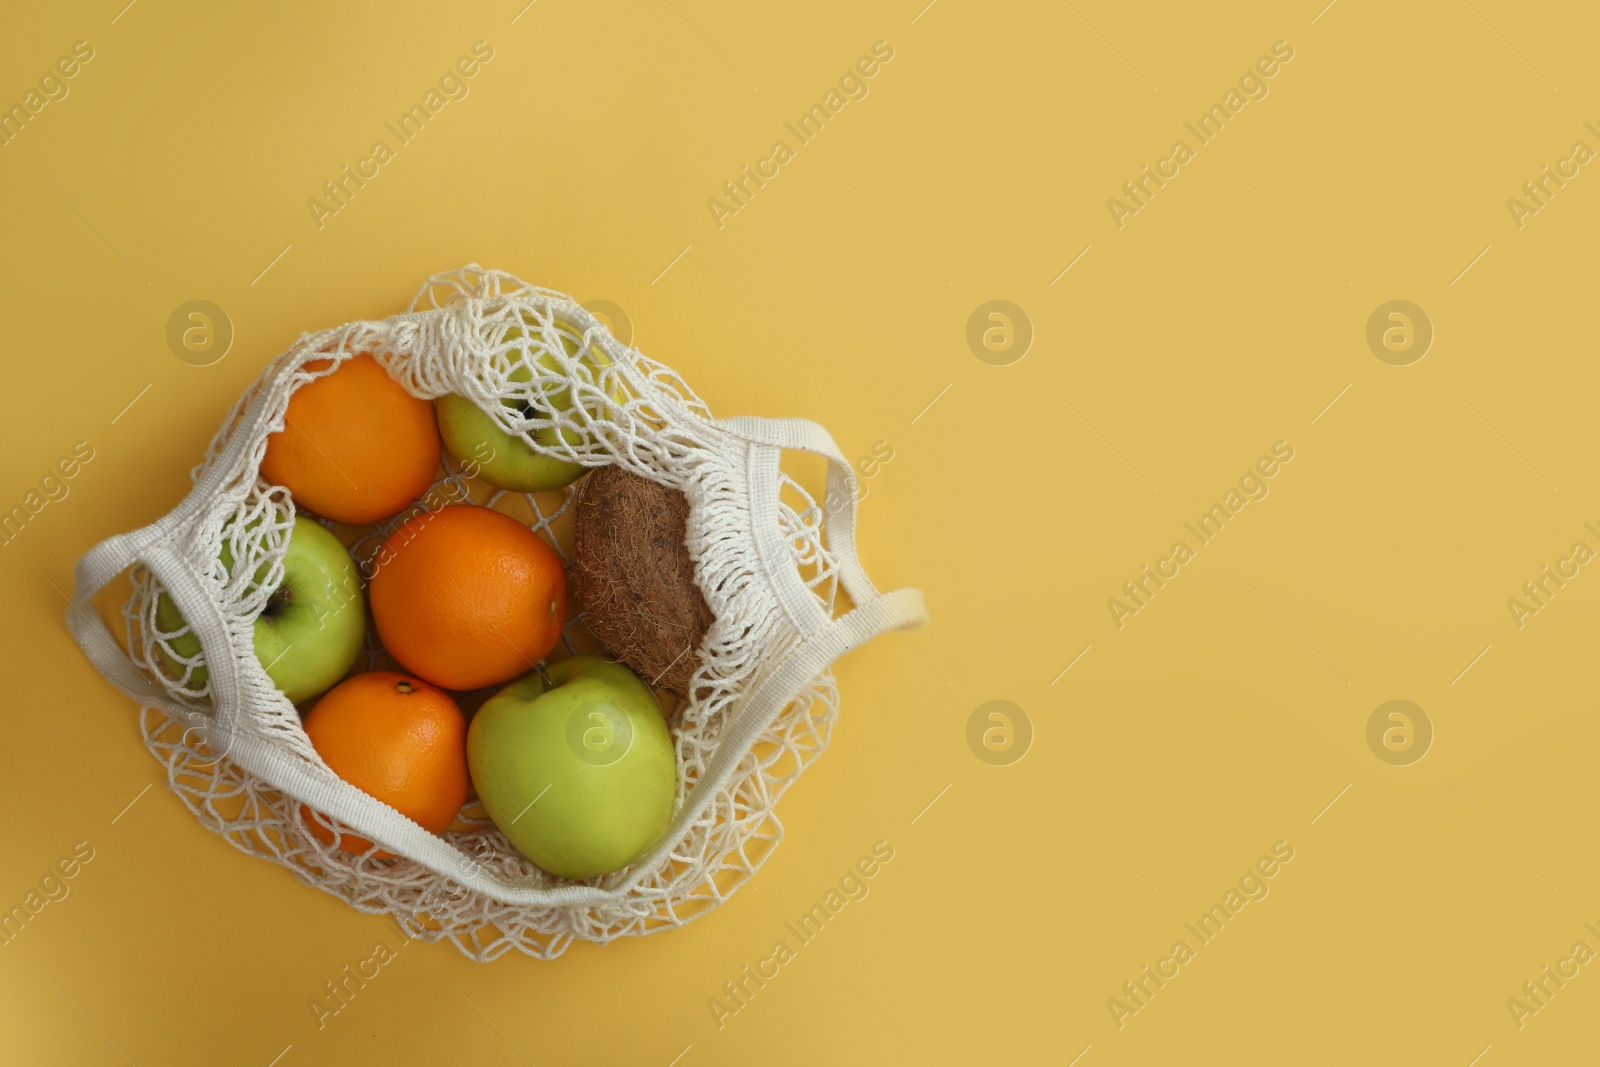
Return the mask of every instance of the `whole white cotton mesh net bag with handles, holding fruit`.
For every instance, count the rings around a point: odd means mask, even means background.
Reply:
[[[416,397],[469,397],[546,454],[619,464],[688,498],[688,550],[715,621],[674,723],[672,822],[632,867],[555,878],[474,806],[458,829],[429,833],[326,768],[258,661],[254,619],[282,581],[294,522],[290,493],[258,474],[267,435],[283,429],[296,387],[362,352]],[[517,365],[534,368],[531,381],[512,381]],[[541,405],[566,389],[570,406]],[[533,440],[547,427],[565,430],[557,445]],[[784,450],[829,461],[821,506],[779,469]],[[466,499],[517,514],[562,552],[552,523],[571,490],[506,494],[446,461],[429,494],[363,531],[352,553],[370,558],[419,509]],[[920,592],[880,593],[867,579],[854,501],[854,472],[822,427],[715,421],[672,370],[624,347],[571,298],[469,266],[430,278],[400,315],[306,334],[280,355],[227,416],[184,501],[78,561],[67,624],[96,669],[139,702],[168,787],[205,827],[363,912],[394,915],[411,936],[448,937],[475,960],[510,949],[550,958],[574,939],[603,944],[696,918],[781,840],[774,805],[827,744],[838,710],[829,665],[886,629],[926,621]],[[224,542],[232,568],[219,558]],[[130,568],[125,653],[91,597]],[[187,622],[181,632],[198,637],[197,656],[178,656],[178,635],[157,625],[162,592]],[[579,617],[552,657],[582,640]],[[368,638],[368,665],[378,653]],[[184,662],[184,675],[163,670],[163,656]],[[302,803],[374,846],[354,854],[323,843],[306,829]],[[379,846],[392,856],[379,857]]]

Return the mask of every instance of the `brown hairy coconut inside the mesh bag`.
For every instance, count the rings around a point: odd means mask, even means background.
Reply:
[[[714,619],[694,585],[688,515],[680,491],[600,467],[573,520],[573,579],[589,630],[645,681],[685,697]]]

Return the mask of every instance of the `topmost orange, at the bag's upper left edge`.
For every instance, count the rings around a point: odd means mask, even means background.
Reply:
[[[438,448],[434,405],[363,354],[294,390],[283,429],[267,438],[261,477],[286,486],[296,507],[341,523],[374,523],[427,491]]]

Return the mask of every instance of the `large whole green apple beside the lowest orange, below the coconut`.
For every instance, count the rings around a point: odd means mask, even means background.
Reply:
[[[672,821],[677,758],[643,678],[573,656],[478,709],[467,766],[494,825],[552,875],[627,867]]]

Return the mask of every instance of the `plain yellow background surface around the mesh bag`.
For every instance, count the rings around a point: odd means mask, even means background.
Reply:
[[[0,26],[0,102],[74,42],[96,51],[0,147],[0,504],[75,442],[96,453],[0,549],[0,905],[96,849],[0,949],[5,1062],[1501,1067],[1592,1048],[1595,965],[1522,1029],[1506,1006],[1573,942],[1600,949],[1600,577],[1522,629],[1506,605],[1574,541],[1600,547],[1600,178],[1522,229],[1506,206],[1574,141],[1600,147],[1592,11],[122,3],[11,5]],[[470,96],[318,229],[307,198],[477,40],[494,59]],[[870,94],[718,229],[706,200],[878,40],[894,58]],[[1294,59],[1270,94],[1117,229],[1106,200],[1278,40]],[[890,443],[862,557],[925,589],[934,622],[838,664],[834,742],[728,905],[550,963],[410,945],[318,1030],[307,1001],[392,934],[160,787],[126,808],[157,765],[62,593],[91,544],[179,499],[299,331],[395,312],[469,261],[622,306],[717,414],[813,418],[851,458]],[[165,342],[197,298],[237,330],[203,368]],[[1397,298],[1437,331],[1411,366],[1365,341]],[[989,299],[1027,312],[1021,362],[968,349]],[[1296,451],[1270,496],[1118,629],[1106,600],[1278,440]],[[968,749],[990,699],[1034,728],[1010,766]],[[1366,744],[1389,699],[1435,729],[1410,766]],[[896,854],[870,896],[718,1029],[707,1000],[878,840]],[[1107,998],[1280,840],[1270,896],[1118,1029]]]

